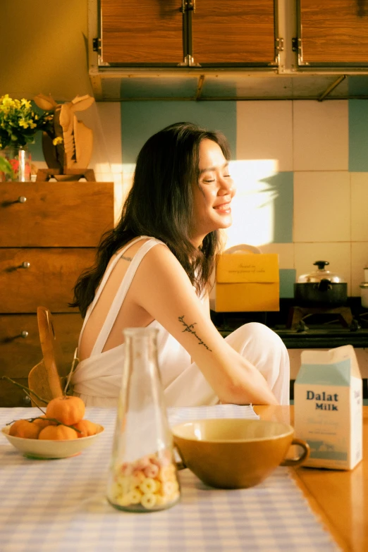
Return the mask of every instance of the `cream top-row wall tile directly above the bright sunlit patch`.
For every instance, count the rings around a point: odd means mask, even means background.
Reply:
[[[293,104],[237,102],[237,159],[273,160],[275,171],[293,171]]]

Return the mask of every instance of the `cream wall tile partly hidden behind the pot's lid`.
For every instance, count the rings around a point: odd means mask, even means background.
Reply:
[[[348,242],[295,243],[296,277],[317,270],[316,261],[327,261],[326,270],[341,274],[351,290],[351,247]]]

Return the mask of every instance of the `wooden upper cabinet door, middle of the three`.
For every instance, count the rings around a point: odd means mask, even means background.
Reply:
[[[196,0],[192,51],[200,65],[268,65],[275,59],[274,0]]]

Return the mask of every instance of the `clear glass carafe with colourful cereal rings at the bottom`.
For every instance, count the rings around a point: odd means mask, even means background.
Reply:
[[[125,361],[107,498],[120,510],[176,504],[180,486],[157,360],[157,329],[123,331]]]

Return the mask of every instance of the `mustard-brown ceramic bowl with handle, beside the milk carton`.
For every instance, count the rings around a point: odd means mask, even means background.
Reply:
[[[184,467],[207,485],[243,489],[262,482],[278,465],[300,465],[309,456],[305,441],[288,424],[254,419],[200,419],[172,428]],[[290,445],[300,457],[285,460]]]

